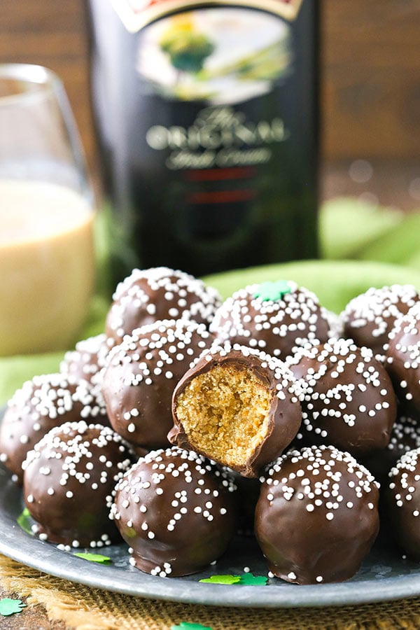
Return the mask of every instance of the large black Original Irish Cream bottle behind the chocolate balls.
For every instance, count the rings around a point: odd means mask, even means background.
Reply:
[[[318,4],[88,0],[114,281],[316,257]]]

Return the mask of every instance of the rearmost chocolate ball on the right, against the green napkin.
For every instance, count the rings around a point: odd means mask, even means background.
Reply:
[[[410,284],[367,289],[353,297],[340,314],[344,337],[353,339],[357,346],[367,346],[374,355],[384,356],[395,320],[419,299]]]

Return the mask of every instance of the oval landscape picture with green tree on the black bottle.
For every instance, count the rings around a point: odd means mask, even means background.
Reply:
[[[288,22],[244,8],[199,8],[142,31],[137,71],[169,99],[237,104],[270,92],[292,62]]]

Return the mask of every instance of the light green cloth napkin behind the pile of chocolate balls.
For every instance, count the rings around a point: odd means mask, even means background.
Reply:
[[[98,295],[80,339],[104,330],[109,298],[104,297],[106,247],[103,225],[97,228]],[[289,262],[241,269],[205,280],[223,297],[246,284],[289,279],[318,295],[321,304],[339,312],[351,297],[370,286],[411,283],[420,290],[420,212],[405,215],[395,209],[343,198],[323,204],[319,218],[321,260]],[[56,372],[62,352],[0,358],[0,405],[34,374]]]

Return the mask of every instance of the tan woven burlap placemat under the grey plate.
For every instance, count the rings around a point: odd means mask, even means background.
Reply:
[[[363,630],[418,629],[420,598],[328,608],[224,608],[186,605],[125,596],[45,575],[0,556],[0,582],[25,598],[27,608],[41,605],[50,622],[71,630],[171,630],[182,622],[212,630]],[[22,629],[25,610],[19,614]],[[1,618],[0,618],[0,627]],[[44,627],[44,626],[38,626]]]

